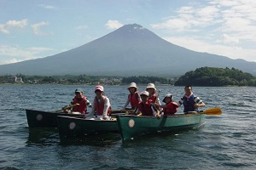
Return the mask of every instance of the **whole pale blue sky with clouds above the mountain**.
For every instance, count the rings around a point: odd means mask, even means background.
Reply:
[[[184,48],[256,61],[255,0],[0,0],[0,65],[59,54],[134,23]]]

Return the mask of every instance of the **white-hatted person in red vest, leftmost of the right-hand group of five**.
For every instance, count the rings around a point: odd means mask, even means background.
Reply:
[[[128,99],[126,100],[126,103],[122,108],[122,111],[125,111],[127,105],[129,104],[131,105],[131,109],[134,110],[137,107],[138,103],[142,101],[137,90],[137,84],[135,82],[131,82],[130,86],[127,89],[129,90],[130,94],[128,95]]]

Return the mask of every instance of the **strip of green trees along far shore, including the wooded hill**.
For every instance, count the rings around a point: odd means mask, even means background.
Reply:
[[[256,87],[256,77],[251,74],[242,72],[235,68],[216,68],[201,67],[195,71],[188,71],[183,76],[177,78],[166,77],[100,77],[88,75],[65,75],[65,76],[26,76],[22,74],[15,75],[21,77],[24,83],[55,83],[55,84],[129,84],[136,82],[137,84],[147,84],[153,82],[155,84],[169,84],[175,86],[253,86]],[[10,82],[12,75],[0,76],[0,83]]]

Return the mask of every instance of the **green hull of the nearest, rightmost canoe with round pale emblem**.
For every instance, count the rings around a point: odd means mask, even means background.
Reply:
[[[122,139],[133,139],[148,133],[177,132],[183,129],[200,127],[205,123],[204,114],[177,116],[116,116]]]

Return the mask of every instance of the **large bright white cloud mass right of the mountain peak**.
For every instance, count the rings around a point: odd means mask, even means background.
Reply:
[[[167,41],[182,47],[256,61],[255,8],[256,1],[253,0],[191,3],[177,8],[177,15],[168,16],[151,26],[161,29]]]

